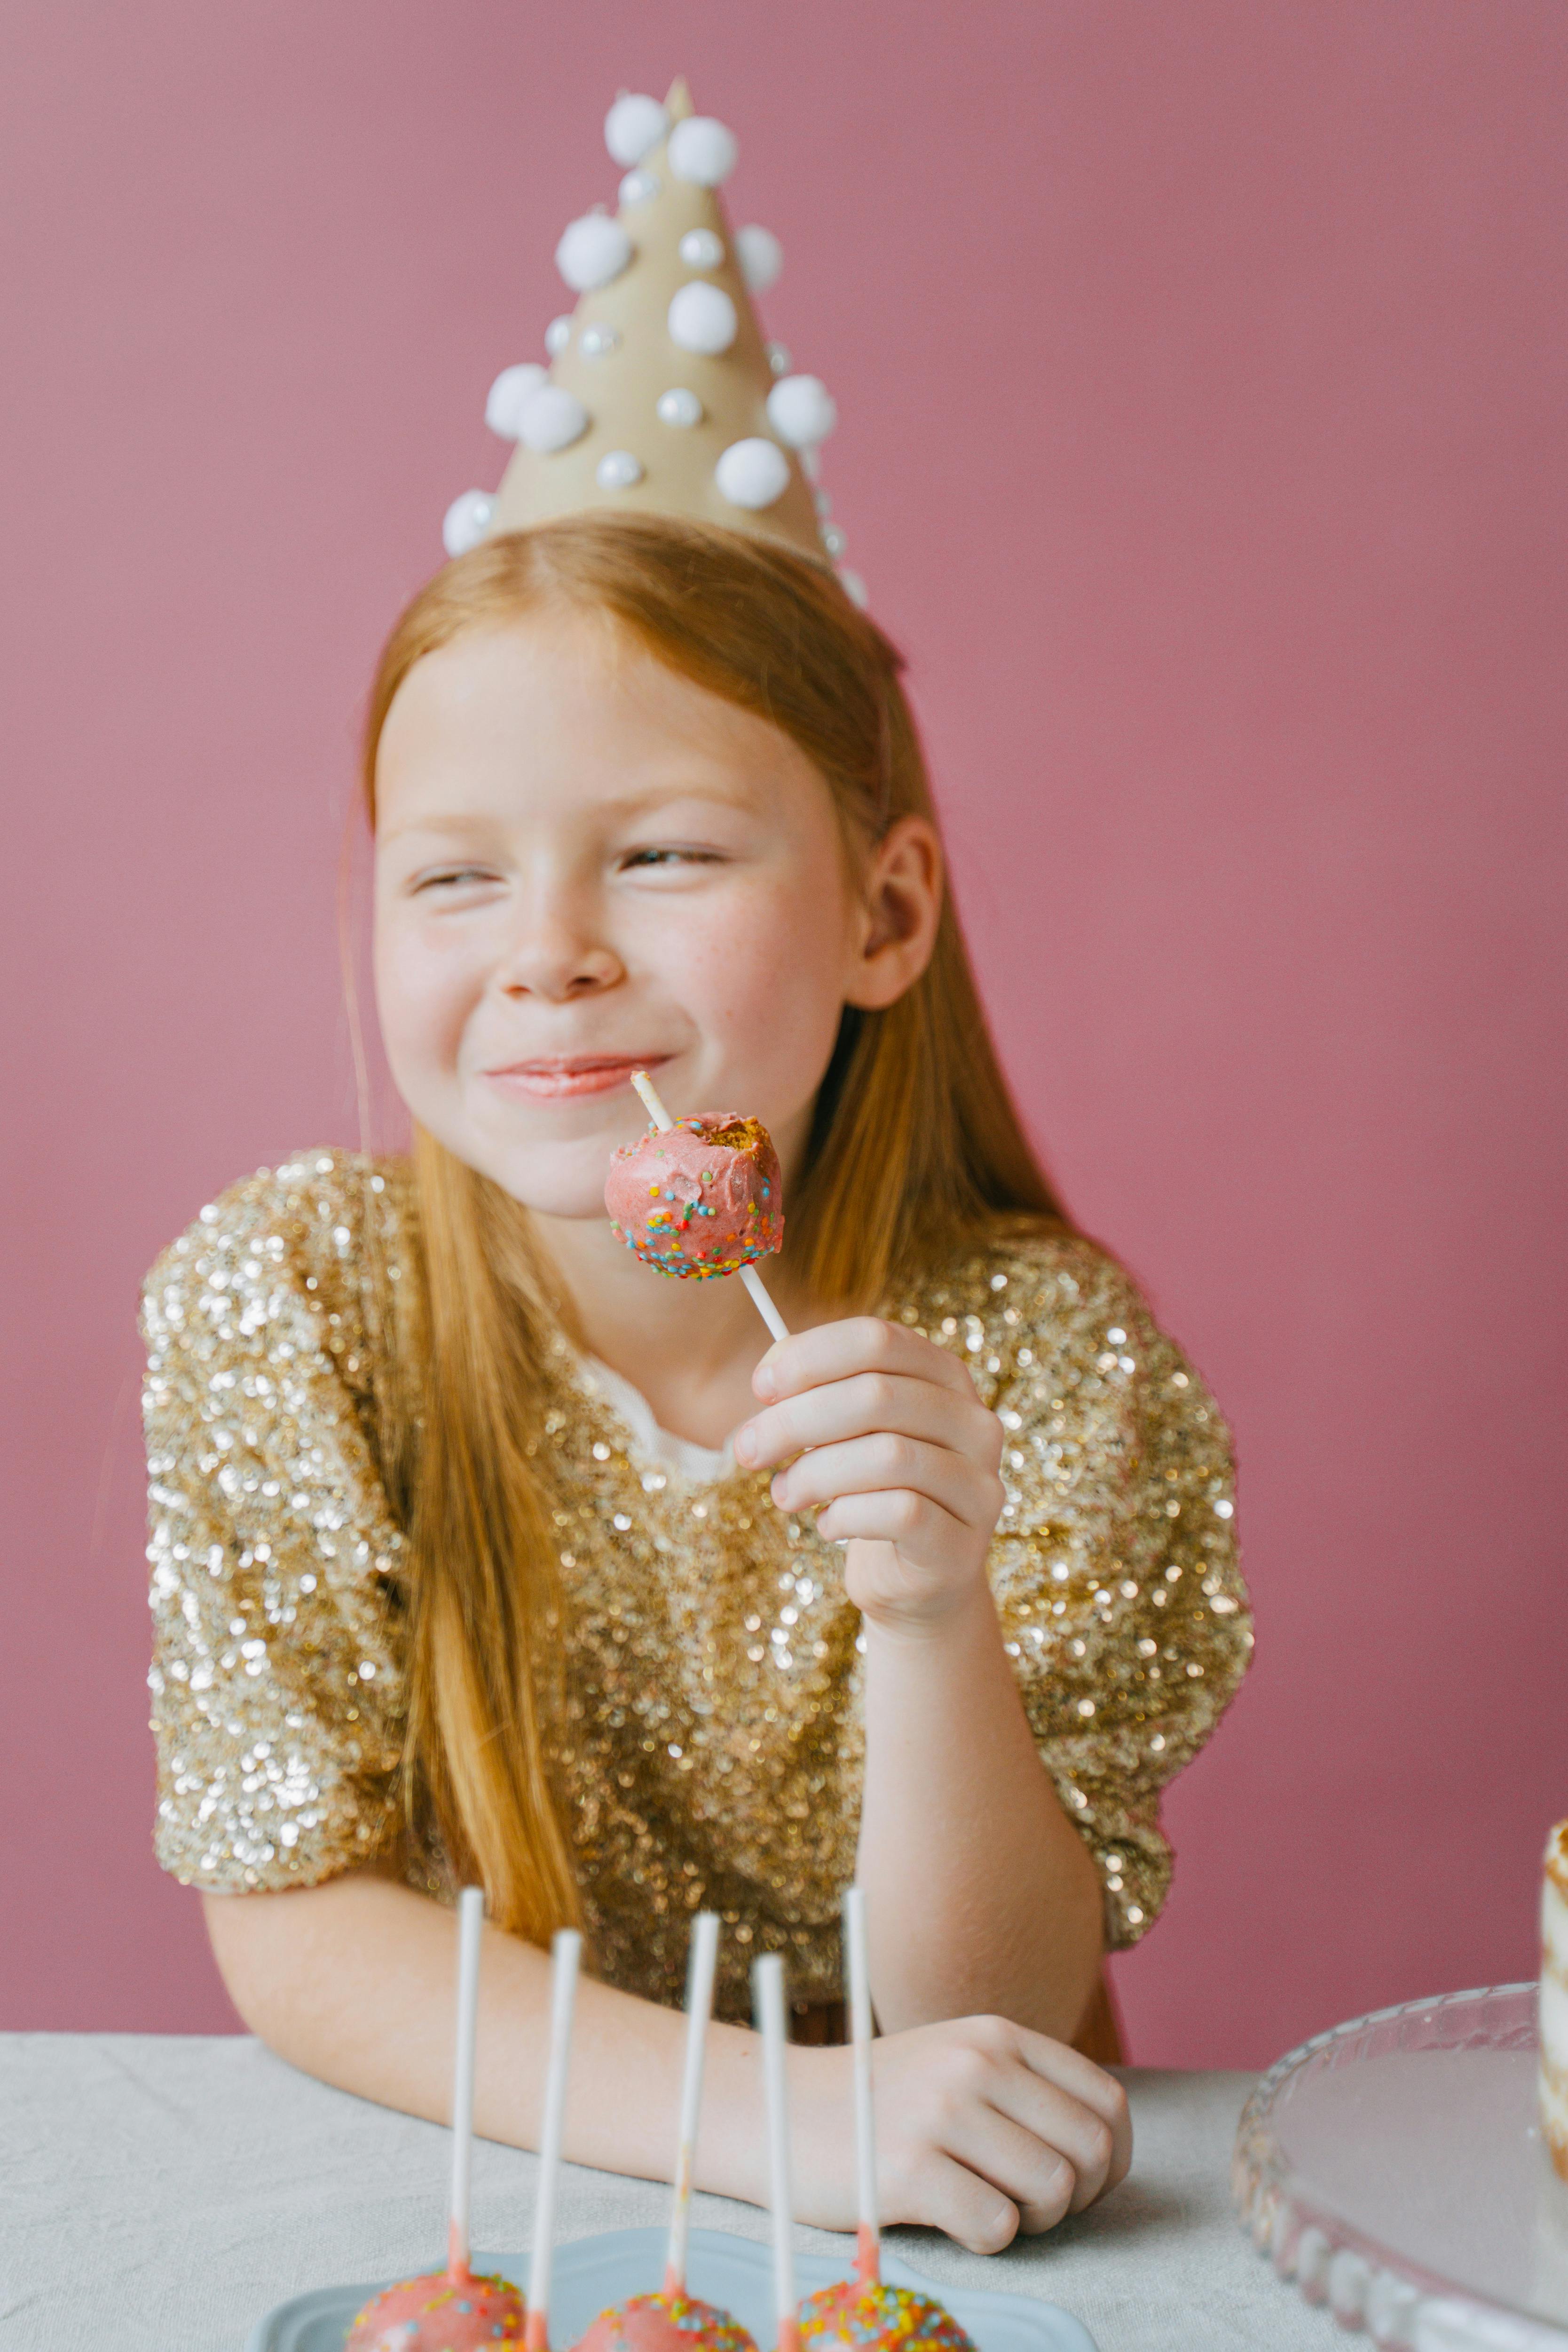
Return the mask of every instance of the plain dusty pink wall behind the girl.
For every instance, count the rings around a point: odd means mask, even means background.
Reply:
[[[1020,1094],[1239,1432],[1258,1668],[1133,2049],[1523,1976],[1568,1811],[1561,0],[14,0],[0,2023],[230,2023],[148,1858],[134,1289],[355,1136],[357,699],[498,475],[609,96],[679,68],[839,395]]]

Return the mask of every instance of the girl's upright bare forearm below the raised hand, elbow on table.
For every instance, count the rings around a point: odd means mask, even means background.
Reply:
[[[1070,2039],[1100,1884],[1046,1778],[990,1590],[865,1628],[860,1884],[884,2032],[990,2011]]]

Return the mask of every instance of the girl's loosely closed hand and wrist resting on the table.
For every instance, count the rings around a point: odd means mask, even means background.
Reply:
[[[853,2164],[844,2145],[849,2051],[790,2051],[802,2220],[849,2230]],[[1063,2042],[1006,2018],[919,2025],[872,2044],[877,2197],[884,2223],[926,2223],[971,2253],[999,2253],[1023,2230],[1126,2176],[1126,2091]]]

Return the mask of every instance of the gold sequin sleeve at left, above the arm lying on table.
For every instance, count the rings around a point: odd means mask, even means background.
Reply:
[[[360,1381],[364,1162],[313,1152],[202,1209],[143,1284],[158,1860],[308,1886],[393,1835],[388,1522]]]

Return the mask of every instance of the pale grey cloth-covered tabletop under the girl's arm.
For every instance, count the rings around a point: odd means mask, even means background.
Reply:
[[[1281,2286],[1229,2209],[1251,2074],[1128,2070],[1133,2171],[1048,2237],[971,2256],[931,2230],[889,2244],[931,2279],[1065,2305],[1100,2352],[1328,2352],[1342,2333]],[[259,2042],[0,2034],[0,2352],[242,2352],[270,2305],[433,2263],[447,2133],[296,2074]],[[663,2225],[668,2190],[567,2166],[559,2239]],[[477,2246],[524,2246],[534,2157],[475,2150]],[[708,2230],[766,2237],[698,2197]],[[851,2241],[802,2230],[851,2260]]]

